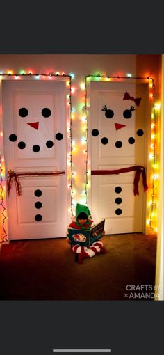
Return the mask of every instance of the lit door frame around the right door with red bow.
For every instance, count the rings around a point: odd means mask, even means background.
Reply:
[[[136,77],[136,78],[131,78],[131,77],[110,77],[110,76],[100,76],[99,74],[97,75],[88,75],[85,77],[85,116],[86,116],[86,121],[87,121],[87,136],[88,136],[88,143],[87,143],[87,152],[88,152],[88,158],[87,158],[87,167],[86,167],[86,182],[87,182],[87,196],[88,196],[88,205],[91,205],[91,200],[92,200],[92,182],[91,182],[91,135],[88,134],[88,132],[91,131],[91,119],[90,119],[90,99],[91,99],[91,85],[93,82],[108,82],[110,83],[128,83],[131,84],[145,84],[145,90],[146,90],[146,112],[145,112],[145,125],[147,125],[147,134],[145,134],[145,171],[147,175],[147,184],[148,186],[150,185],[151,181],[151,164],[149,160],[149,147],[151,145],[151,111],[154,106],[154,102],[152,102],[152,98],[154,99],[154,96],[152,97],[151,94],[151,85],[149,83],[149,79],[152,78],[141,78],[141,77]],[[153,79],[152,79],[153,80]],[[142,233],[147,234],[148,231],[148,225],[147,221],[149,220],[149,201],[151,200],[151,189],[149,188],[147,193],[144,195],[144,200],[143,200],[143,222],[142,222]]]

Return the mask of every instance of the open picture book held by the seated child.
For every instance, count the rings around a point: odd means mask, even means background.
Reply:
[[[97,222],[90,230],[68,228],[69,240],[72,245],[90,246],[103,236],[105,219]]]

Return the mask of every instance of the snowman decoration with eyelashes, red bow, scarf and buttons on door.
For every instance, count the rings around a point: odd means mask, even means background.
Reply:
[[[108,104],[104,104],[103,107],[101,107],[101,111],[104,112],[104,116],[105,116],[106,120],[108,120],[108,122],[110,122],[110,125],[108,125],[106,122],[106,126],[105,126],[106,127],[106,130],[105,130],[106,136],[102,136],[101,132],[99,132],[99,129],[97,129],[97,127],[94,127],[91,132],[92,136],[94,136],[94,137],[101,136],[100,141],[99,141],[99,147],[101,148],[101,144],[106,145],[106,147],[108,147],[108,151],[106,150],[106,154],[108,154],[109,157],[112,154],[112,152],[114,152],[113,157],[120,157],[120,160],[119,160],[120,165],[122,164],[122,162],[121,162],[122,157],[128,156],[129,151],[130,152],[132,151],[131,146],[135,145],[136,137],[140,138],[144,135],[143,127],[138,127],[137,129],[135,129],[136,125],[135,125],[135,121],[134,121],[134,117],[133,117],[133,113],[135,111],[137,111],[138,107],[140,106],[140,102],[142,100],[142,97],[135,98],[135,97],[131,96],[126,91],[122,97],[122,100],[126,100],[126,102],[124,102],[123,109],[121,109],[121,105],[120,105],[119,117],[117,115],[115,115],[115,107],[110,107],[110,99],[108,101]],[[129,104],[129,100],[131,100],[133,102],[133,104],[131,104],[131,103]],[[121,104],[121,102],[120,102],[120,104]],[[115,116],[117,116],[117,117],[115,117]],[[101,116],[99,116],[99,117],[101,117]],[[104,119],[104,118],[101,118],[101,119]],[[133,123],[131,123],[131,125],[129,125],[131,120],[133,120]],[[103,128],[103,125],[101,126],[101,129],[102,128]],[[116,133],[114,134],[114,132],[116,132],[116,131],[119,131],[120,135],[118,135]],[[113,134],[113,136],[111,136],[111,134]],[[115,139],[115,137],[117,137],[117,139]],[[118,139],[118,137],[119,137],[119,139]],[[125,145],[126,145],[126,148],[125,148]],[[122,148],[124,148],[124,153],[122,153]],[[135,155],[135,150],[134,150],[134,155]],[[103,155],[103,153],[102,153],[102,156],[106,156],[106,155]],[[133,156],[133,152],[132,152],[131,156]],[[134,161],[135,161],[135,159],[134,159]],[[99,163],[99,164],[101,165],[101,163]],[[102,163],[102,165],[103,165],[103,163]],[[129,164],[129,165],[132,165],[132,164]],[[136,161],[135,161],[135,165],[136,165]],[[109,166],[110,166],[110,163],[109,163]],[[136,167],[131,166],[131,168],[133,168],[133,171],[134,171],[135,170],[134,168],[136,168]],[[119,170],[119,166],[118,167],[115,166],[115,168],[113,168],[113,169],[115,169],[115,171]],[[126,172],[126,168],[122,172]],[[91,175],[103,175],[103,174],[108,175],[110,173],[117,174],[117,172],[114,172],[114,170],[113,170],[113,172],[109,171],[109,170],[103,171],[101,169],[100,169],[100,171],[99,170],[98,171],[97,170],[91,171]],[[144,174],[145,174],[145,171],[144,171]],[[146,191],[146,189],[147,189],[147,186],[146,186],[146,182],[145,182],[145,190],[144,191]],[[122,214],[122,208],[121,208],[122,198],[120,198],[120,195],[119,195],[122,192],[121,184],[119,186],[118,185],[115,186],[114,190],[115,190],[115,194],[117,195],[115,198],[115,203],[117,205],[119,205],[119,206],[117,206],[119,208],[116,208],[116,210],[115,210],[115,214],[117,216],[119,216],[120,214]]]

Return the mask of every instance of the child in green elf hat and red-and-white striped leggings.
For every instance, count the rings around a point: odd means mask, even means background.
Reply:
[[[76,205],[76,219],[69,224],[69,228],[74,229],[88,229],[90,230],[92,226],[92,219],[90,215],[90,210],[87,206],[77,203]],[[67,242],[69,242],[69,237],[67,235]],[[103,246],[103,243],[98,240],[97,242],[92,243],[88,248],[86,246],[80,246],[79,244],[71,246],[73,253],[75,253],[75,261],[79,264],[83,263],[83,259],[92,258],[98,253],[105,254],[106,249]]]

